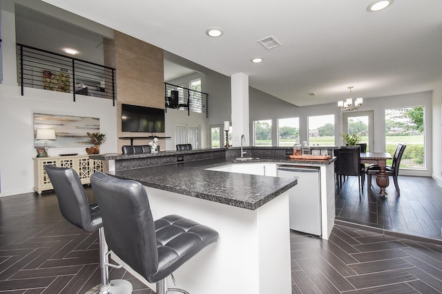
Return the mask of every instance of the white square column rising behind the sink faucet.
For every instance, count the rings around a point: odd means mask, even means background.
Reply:
[[[249,131],[249,76],[244,73],[231,75],[231,120],[233,147],[241,146],[241,136],[245,142],[242,146],[250,146]]]

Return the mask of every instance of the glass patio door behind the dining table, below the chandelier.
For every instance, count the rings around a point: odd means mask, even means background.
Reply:
[[[374,149],[373,111],[347,111],[343,113],[344,133],[362,135],[361,143],[367,143],[367,152]]]

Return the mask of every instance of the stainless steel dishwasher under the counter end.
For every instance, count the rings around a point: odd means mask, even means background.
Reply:
[[[320,208],[320,167],[280,165],[278,176],[297,178],[289,190],[290,229],[322,235]]]

